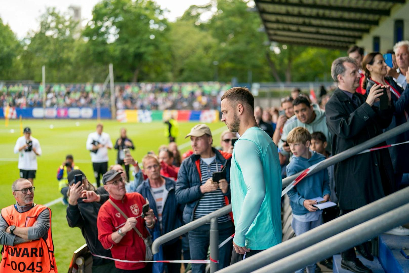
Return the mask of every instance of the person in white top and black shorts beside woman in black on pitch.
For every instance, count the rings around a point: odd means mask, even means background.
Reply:
[[[108,171],[108,149],[112,149],[111,137],[102,130],[102,123],[98,123],[97,131],[90,133],[87,139],[87,150],[90,151],[97,187],[100,185],[100,177]]]

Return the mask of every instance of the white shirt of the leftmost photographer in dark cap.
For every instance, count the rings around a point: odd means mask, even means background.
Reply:
[[[33,148],[36,148],[38,155],[41,155],[40,142],[32,136],[30,140],[33,142]],[[14,153],[18,155],[18,168],[20,170],[33,171],[37,170],[37,155],[31,150],[26,152],[25,149],[18,151],[18,149],[26,144],[25,136],[20,136],[16,141],[16,146],[14,146]]]

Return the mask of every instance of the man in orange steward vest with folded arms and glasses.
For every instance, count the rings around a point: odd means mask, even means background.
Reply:
[[[34,187],[25,178],[11,186],[16,204],[1,209],[1,272],[57,273],[51,236],[51,209],[37,205]]]

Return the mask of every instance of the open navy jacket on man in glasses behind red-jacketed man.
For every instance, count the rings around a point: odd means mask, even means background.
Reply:
[[[182,225],[182,205],[178,204],[178,201],[175,198],[175,180],[169,177],[162,176],[165,180],[165,188],[168,191],[168,196],[165,200],[163,205],[162,211],[162,230],[160,230],[160,225],[157,223],[153,232],[160,231],[160,234],[163,235],[168,233],[172,230],[177,229]],[[140,184],[137,189],[137,193],[142,194],[144,198],[148,198],[149,207],[153,209],[153,213],[155,214],[156,218],[158,217],[157,209],[156,209],[156,202],[155,198],[153,197],[153,193],[151,191],[151,185],[149,184],[149,178],[144,180],[142,184]],[[179,239],[175,238],[169,242],[164,243],[165,246],[171,245],[175,243]]]

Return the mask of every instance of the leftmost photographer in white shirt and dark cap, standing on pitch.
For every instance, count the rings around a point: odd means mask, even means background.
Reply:
[[[19,153],[18,168],[20,178],[25,178],[34,185],[37,171],[37,156],[41,155],[40,142],[31,136],[29,127],[24,128],[24,136],[20,136],[14,146],[14,153]]]

